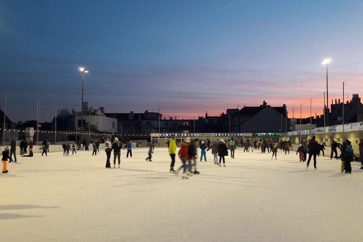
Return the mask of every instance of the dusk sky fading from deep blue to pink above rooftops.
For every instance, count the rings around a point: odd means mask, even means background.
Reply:
[[[363,93],[362,12],[363,1],[0,0],[0,106],[7,94],[12,122],[36,120],[40,90],[40,122],[55,105],[80,109],[85,67],[84,101],[106,112],[266,101],[307,117],[311,98],[319,115],[327,56],[330,103],[344,81],[345,100]]]

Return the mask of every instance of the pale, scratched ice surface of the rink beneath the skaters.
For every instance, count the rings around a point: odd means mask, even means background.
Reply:
[[[148,148],[132,150],[115,169],[103,149],[18,156],[0,175],[0,240],[363,241],[360,163],[344,174],[340,160],[321,156],[307,170],[294,151],[271,160],[239,148],[227,167],[208,151],[200,174],[180,179],[167,148],[155,147],[152,162]]]

